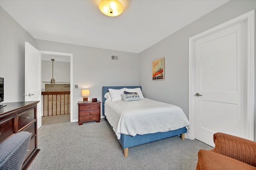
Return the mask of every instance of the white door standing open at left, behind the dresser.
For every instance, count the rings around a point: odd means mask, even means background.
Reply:
[[[25,101],[37,104],[37,128],[42,126],[41,111],[41,52],[25,42]]]

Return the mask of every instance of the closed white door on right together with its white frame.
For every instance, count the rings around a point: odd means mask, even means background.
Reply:
[[[189,48],[188,138],[254,140],[254,10],[190,38]]]

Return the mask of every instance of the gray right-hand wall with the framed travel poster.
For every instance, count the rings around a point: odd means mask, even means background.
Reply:
[[[231,0],[139,53],[139,85],[143,95],[178,105],[188,117],[188,38],[255,9],[255,0]],[[152,81],[151,62],[160,57],[165,58],[165,80]],[[254,129],[256,138],[255,125]]]

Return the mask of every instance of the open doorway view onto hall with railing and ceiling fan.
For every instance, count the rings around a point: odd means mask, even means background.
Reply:
[[[42,125],[70,122],[70,56],[41,58]]]

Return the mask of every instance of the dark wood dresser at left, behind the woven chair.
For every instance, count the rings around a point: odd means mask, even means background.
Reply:
[[[0,108],[0,143],[14,133],[28,131],[32,133],[28,151],[22,165],[26,170],[40,149],[37,147],[37,103],[39,101],[1,103]]]

